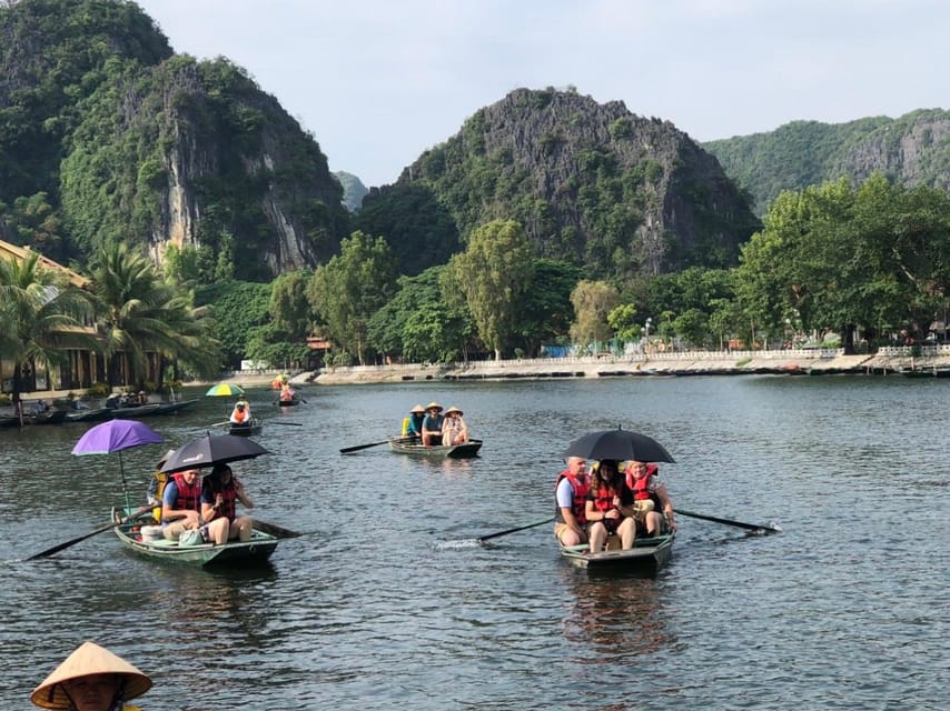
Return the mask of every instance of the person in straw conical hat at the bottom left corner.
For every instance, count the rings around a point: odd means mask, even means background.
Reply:
[[[126,701],[151,689],[151,679],[121,657],[83,642],[30,694],[40,709],[138,711]]]

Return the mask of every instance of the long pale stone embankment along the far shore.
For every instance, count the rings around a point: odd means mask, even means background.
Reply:
[[[950,346],[887,348],[845,356],[841,349],[781,351],[690,351],[623,357],[540,358],[447,364],[360,365],[297,375],[296,382],[358,384],[426,380],[617,378],[627,375],[888,374],[950,369]]]

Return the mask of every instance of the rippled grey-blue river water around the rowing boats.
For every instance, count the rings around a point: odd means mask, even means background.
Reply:
[[[194,394],[194,393],[192,393]],[[141,560],[110,533],[2,565],[0,709],[85,639],[150,673],[156,709],[947,709],[950,381],[666,378],[311,388],[235,465],[255,513],[307,532],[270,565],[210,572]],[[465,410],[472,461],[384,447],[415,404]],[[151,465],[228,403],[147,420]],[[299,422],[284,427],[277,422]],[[592,577],[544,525],[558,452],[622,423],[676,458],[681,517],[656,578]],[[89,425],[0,431],[0,560],[108,521],[118,455],[75,457]]]

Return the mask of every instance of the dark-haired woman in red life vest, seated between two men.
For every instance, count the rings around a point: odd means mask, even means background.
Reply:
[[[591,477],[591,489],[584,508],[591,552],[600,553],[604,550],[608,535],[620,538],[622,550],[632,549],[636,538],[634,514],[633,491],[626,485],[619,462],[601,460]]]

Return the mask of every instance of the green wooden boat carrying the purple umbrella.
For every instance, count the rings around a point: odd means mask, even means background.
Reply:
[[[116,513],[113,512],[113,515]],[[197,565],[220,565],[236,563],[248,565],[263,563],[277,548],[279,539],[255,529],[249,541],[229,541],[222,545],[202,543],[200,545],[179,545],[178,541],[167,541],[161,537],[142,537],[141,527],[137,523],[125,523],[115,529],[122,545],[136,553],[151,558],[179,563]]]

